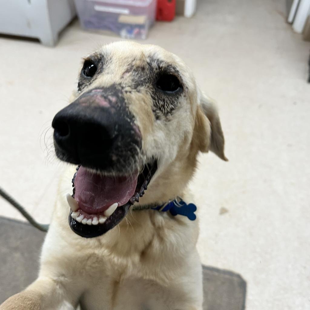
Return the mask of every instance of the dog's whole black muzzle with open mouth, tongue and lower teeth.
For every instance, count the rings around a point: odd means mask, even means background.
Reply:
[[[144,195],[157,162],[139,162],[142,136],[116,88],[84,93],[55,115],[52,126],[56,155],[79,165],[73,195],[67,195],[70,227],[82,237],[100,236]]]

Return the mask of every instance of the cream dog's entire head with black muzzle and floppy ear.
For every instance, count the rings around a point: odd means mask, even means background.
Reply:
[[[113,228],[134,203],[180,195],[199,151],[226,160],[212,102],[177,56],[153,45],[116,42],[86,57],[52,126],[56,155],[79,165],[69,223],[83,237]]]

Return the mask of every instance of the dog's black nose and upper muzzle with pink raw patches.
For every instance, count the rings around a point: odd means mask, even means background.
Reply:
[[[56,155],[74,164],[124,170],[141,148],[141,135],[122,95],[89,91],[58,112],[52,122]]]

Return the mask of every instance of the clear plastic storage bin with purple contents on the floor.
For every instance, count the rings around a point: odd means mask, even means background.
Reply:
[[[83,28],[145,39],[154,23],[156,0],[75,0]]]

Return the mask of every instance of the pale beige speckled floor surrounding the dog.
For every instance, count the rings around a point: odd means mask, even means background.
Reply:
[[[0,38],[0,185],[39,221],[62,166],[47,128],[81,57],[115,39],[76,22],[55,48]],[[230,161],[201,156],[191,184],[202,262],[246,279],[249,310],[310,309],[310,44],[286,24],[284,1],[200,1],[193,19],[157,23],[146,42],[182,57],[219,102]],[[0,215],[22,219],[4,201]]]

